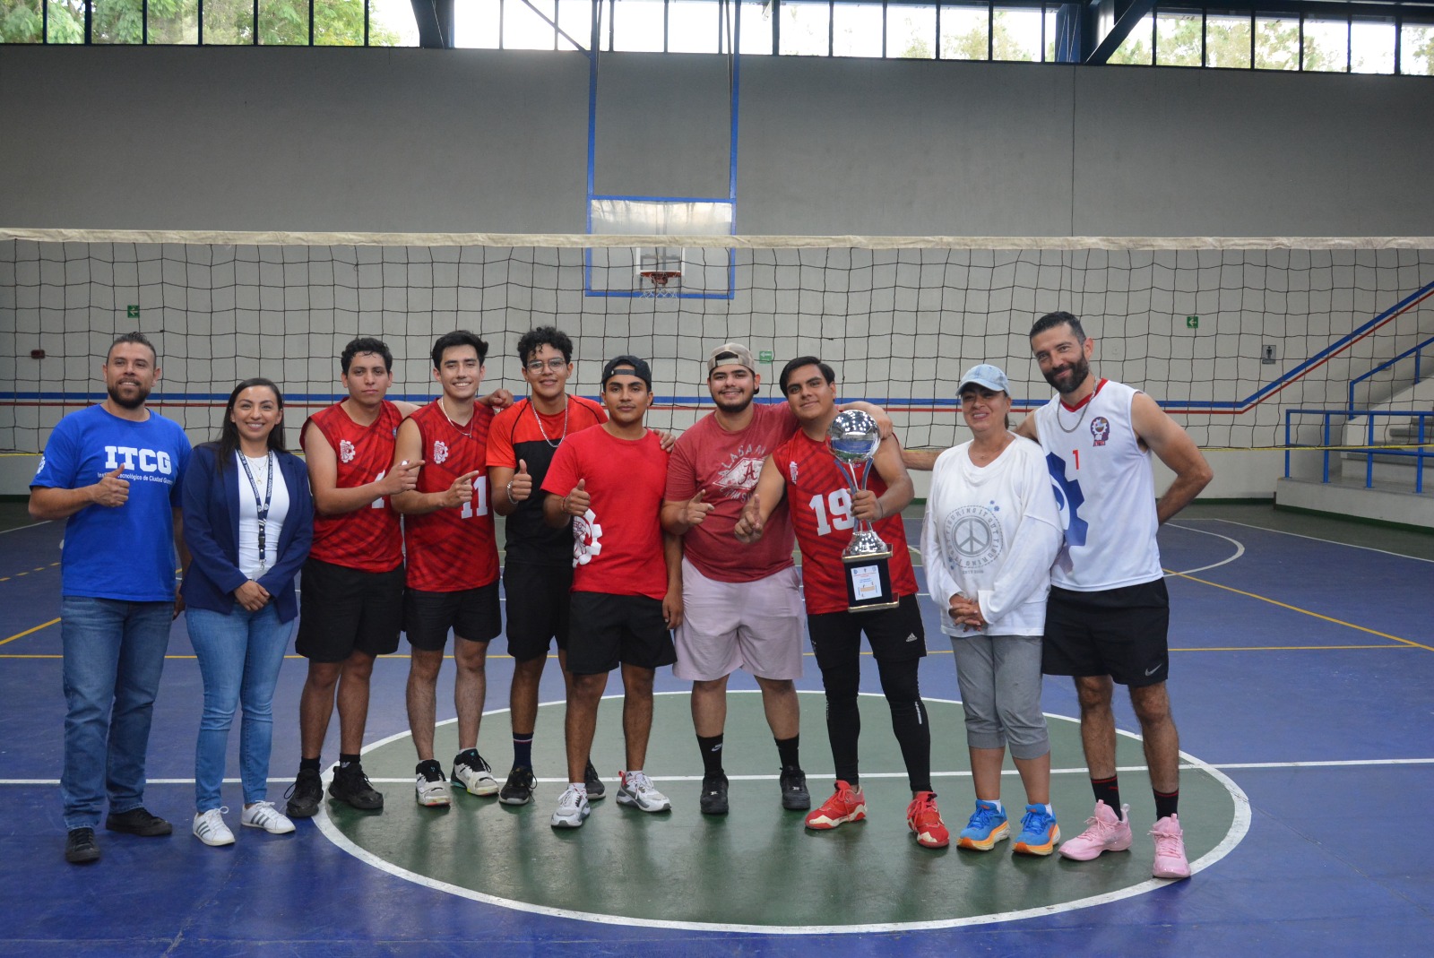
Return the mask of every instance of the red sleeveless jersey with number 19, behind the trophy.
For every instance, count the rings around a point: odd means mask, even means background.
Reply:
[[[846,568],[842,549],[852,541],[852,493],[832,450],[797,430],[777,446],[773,462],[787,480],[792,523],[802,544],[802,588],[809,615],[846,611]],[[878,496],[886,492],[876,469],[866,488]],[[892,589],[896,595],[916,594],[916,574],[906,549],[906,529],[901,513],[873,523],[876,533],[892,548]]]

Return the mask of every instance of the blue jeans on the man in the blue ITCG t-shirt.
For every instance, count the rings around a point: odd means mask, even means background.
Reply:
[[[145,803],[145,754],[174,602],[65,595],[65,827],[96,827]]]

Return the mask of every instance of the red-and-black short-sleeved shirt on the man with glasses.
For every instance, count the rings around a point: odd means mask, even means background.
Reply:
[[[608,422],[608,414],[602,406],[582,396],[569,396],[566,409],[554,416],[535,413],[528,399],[498,413],[493,427],[488,430],[488,466],[516,470],[522,459],[533,478],[533,495],[519,502],[503,525],[508,558],[538,565],[568,565],[572,562],[572,531],[554,529],[543,522],[542,501],[546,496],[539,490],[558,445],[574,433]],[[493,495],[505,493],[495,489]]]

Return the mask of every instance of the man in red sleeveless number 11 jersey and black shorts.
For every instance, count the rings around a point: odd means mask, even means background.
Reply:
[[[498,782],[478,753],[486,693],[488,642],[502,631],[498,546],[489,509],[488,433],[493,413],[475,402],[483,381],[488,343],[467,330],[433,344],[433,379],[443,393],[399,426],[391,469],[422,462],[417,485],[393,496],[404,515],[407,592],[404,632],[409,665],[409,730],[419,753],[419,805],[450,802],[443,766],[433,757],[435,690],[447,632],[453,630],[453,706],[459,753],[452,780],[472,795],[498,795]]]

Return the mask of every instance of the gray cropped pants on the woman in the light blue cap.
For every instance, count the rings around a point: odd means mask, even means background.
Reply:
[[[967,713],[967,744],[1010,746],[1014,759],[1040,759],[1050,751],[1041,711],[1041,637],[952,637],[951,651]]]

